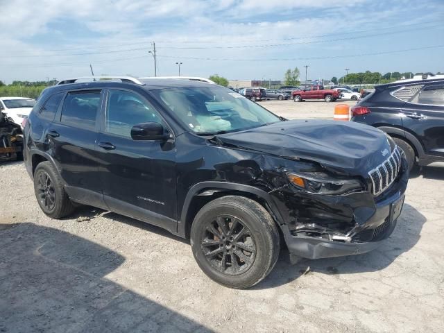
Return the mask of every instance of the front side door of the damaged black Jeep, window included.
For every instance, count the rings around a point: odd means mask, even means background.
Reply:
[[[110,210],[176,232],[176,147],[168,141],[135,141],[138,123],[167,124],[146,97],[109,89],[101,121],[99,174]]]

